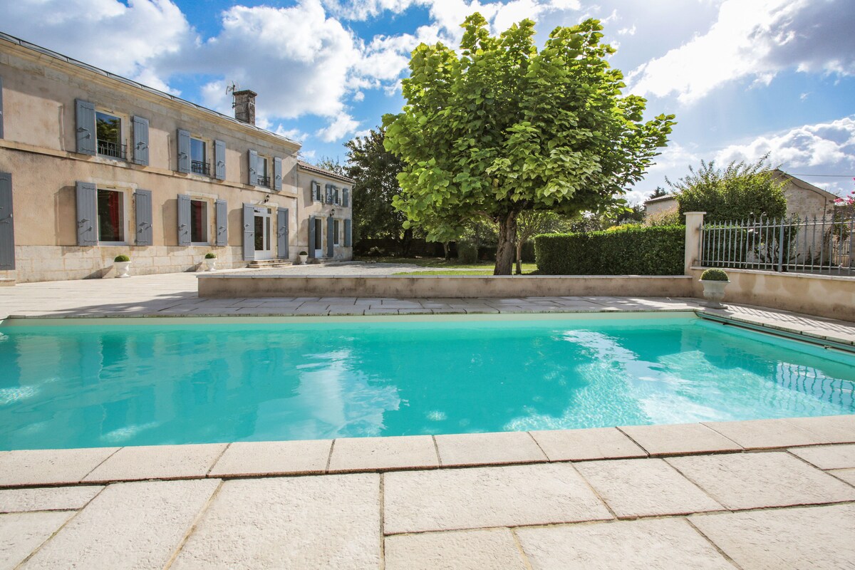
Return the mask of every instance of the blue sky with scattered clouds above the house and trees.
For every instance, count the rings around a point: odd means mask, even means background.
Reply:
[[[631,201],[701,159],[767,152],[813,184],[855,190],[852,0],[17,0],[3,10],[0,31],[223,113],[230,83],[257,91],[259,124],[302,142],[310,162],[344,162],[348,139],[398,112],[410,50],[456,46],[466,15],[480,11],[493,32],[531,18],[540,44],[596,17],[627,92],[678,121]]]

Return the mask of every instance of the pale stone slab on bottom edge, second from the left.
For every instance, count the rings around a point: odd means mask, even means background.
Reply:
[[[162,568],[218,485],[204,479],[109,485],[21,568]]]

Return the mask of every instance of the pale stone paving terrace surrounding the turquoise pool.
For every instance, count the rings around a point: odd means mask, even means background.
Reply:
[[[0,288],[0,315],[28,317],[374,310],[704,309],[619,297],[200,300],[186,273]],[[707,312],[855,344],[849,322]],[[853,536],[855,415],[0,452],[0,568],[851,568]]]

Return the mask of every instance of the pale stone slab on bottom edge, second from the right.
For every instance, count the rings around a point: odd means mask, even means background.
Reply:
[[[534,570],[734,570],[686,520],[635,520],[516,531]]]

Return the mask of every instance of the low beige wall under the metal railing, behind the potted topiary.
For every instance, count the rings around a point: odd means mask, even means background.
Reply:
[[[698,282],[705,267],[692,267],[693,296],[704,297]],[[760,305],[795,313],[855,320],[855,278],[810,273],[775,273],[751,269],[725,269],[730,285],[724,303]]]

